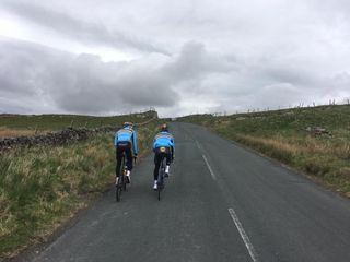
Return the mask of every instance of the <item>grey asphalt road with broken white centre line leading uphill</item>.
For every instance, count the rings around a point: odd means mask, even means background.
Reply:
[[[106,193],[44,251],[23,261],[350,261],[350,201],[188,123],[163,199],[153,156],[115,202]]]

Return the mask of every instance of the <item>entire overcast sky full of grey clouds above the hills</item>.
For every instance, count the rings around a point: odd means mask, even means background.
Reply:
[[[350,98],[348,0],[0,0],[0,114]]]

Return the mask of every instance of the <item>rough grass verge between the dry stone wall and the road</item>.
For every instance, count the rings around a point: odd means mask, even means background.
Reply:
[[[137,130],[141,155],[150,151],[158,124],[153,121]],[[0,154],[0,258],[47,239],[110,188],[114,176],[113,134]]]

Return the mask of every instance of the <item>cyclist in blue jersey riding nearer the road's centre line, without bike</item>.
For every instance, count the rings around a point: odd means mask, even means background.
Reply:
[[[161,148],[165,147],[162,151]],[[165,154],[166,157],[166,167],[165,167],[165,177],[168,177],[170,172],[170,166],[172,160],[174,160],[175,157],[175,142],[174,142],[174,136],[168,132],[168,127],[167,124],[162,124],[161,132],[159,132],[153,140],[153,152],[154,152],[154,186],[153,189],[158,189],[158,175],[159,175],[159,169],[161,165],[161,159],[162,159],[162,154]]]

